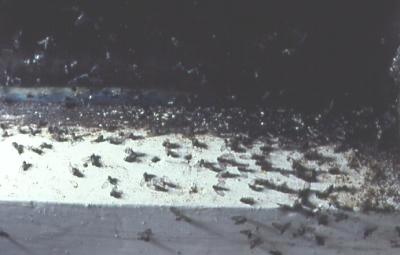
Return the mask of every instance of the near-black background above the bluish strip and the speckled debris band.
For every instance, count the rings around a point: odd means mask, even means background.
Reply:
[[[0,0],[0,84],[392,105],[396,1]]]

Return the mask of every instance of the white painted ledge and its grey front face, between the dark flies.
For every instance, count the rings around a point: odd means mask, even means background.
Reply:
[[[24,127],[26,128],[26,127]],[[23,129],[24,129],[23,128]],[[117,137],[118,132],[143,135],[144,139],[125,140],[120,145],[105,141],[94,143],[100,134],[104,138]],[[244,153],[236,153],[226,146],[222,138],[212,135],[197,136],[208,149],[195,148],[189,138],[182,135],[150,137],[144,130],[119,130],[107,133],[101,130],[76,130],[83,140],[56,142],[50,133],[21,134],[18,128],[7,130],[11,135],[0,141],[0,237],[1,254],[398,254],[400,244],[395,230],[399,222],[397,213],[347,213],[348,219],[338,220],[336,208],[329,199],[309,200],[327,215],[328,221],[319,224],[319,214],[306,217],[296,212],[279,210],[279,205],[291,206],[299,201],[298,194],[288,194],[264,188],[261,192],[249,188],[256,178],[283,185],[294,191],[310,188],[323,192],[330,185],[357,188],[357,192],[333,194],[340,203],[357,208],[363,196],[364,176],[368,169],[351,169],[348,161],[352,151],[334,153],[331,147],[318,151],[333,161],[317,164],[304,161],[320,174],[318,182],[309,183],[293,175],[293,160],[302,160],[303,154],[295,150],[275,150],[267,157],[279,172],[266,172],[255,164],[252,154],[260,154],[261,141]],[[180,144],[174,149],[178,158],[167,156],[164,141]],[[12,143],[24,146],[19,154]],[[43,149],[38,155],[31,148],[43,142],[53,149]],[[145,153],[141,162],[124,161],[126,149]],[[103,167],[90,163],[92,154],[100,155]],[[190,161],[184,158],[191,154]],[[157,156],[161,160],[153,163]],[[243,173],[237,167],[218,163],[218,157],[235,159],[248,164],[254,173]],[[220,174],[202,166],[205,160],[222,168],[224,172],[239,174],[236,178],[222,178]],[[22,162],[32,164],[23,171]],[[83,165],[88,163],[87,167]],[[328,173],[337,166],[342,174]],[[72,167],[85,175],[74,176]],[[288,174],[285,174],[287,171]],[[154,190],[152,181],[145,182],[143,174],[154,174],[156,181],[164,180],[177,185],[168,192]],[[118,178],[112,185],[108,176]],[[228,188],[216,192],[213,185]],[[197,187],[197,193],[191,192]],[[110,196],[115,188],[122,192],[117,199]],[[254,198],[253,206],[240,202],[243,197]],[[393,205],[396,204],[393,202]],[[176,220],[170,207],[187,216]],[[232,216],[245,216],[247,221],[235,225]],[[287,225],[285,231],[279,226]],[[321,223],[321,222],[320,222]],[[375,229],[376,227],[376,229]],[[149,242],[138,240],[138,233],[150,228]],[[302,235],[296,235],[303,229]],[[369,229],[374,229],[371,233]],[[242,230],[252,231],[247,238]],[[300,231],[301,232],[301,231]],[[323,237],[318,245],[316,237]],[[250,242],[258,245],[250,248]],[[4,251],[4,253],[3,253]],[[278,254],[278,253],[276,253]]]

